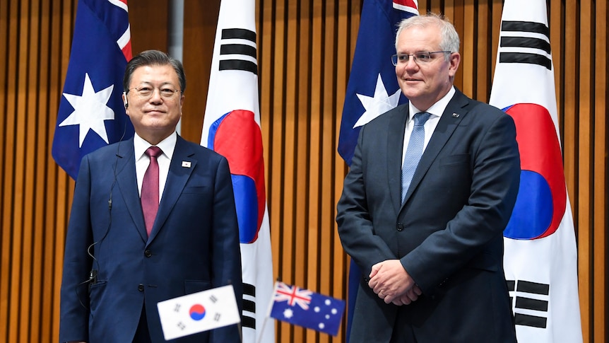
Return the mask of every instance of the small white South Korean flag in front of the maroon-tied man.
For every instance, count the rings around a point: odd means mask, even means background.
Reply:
[[[237,324],[241,318],[232,285],[157,303],[165,340]]]

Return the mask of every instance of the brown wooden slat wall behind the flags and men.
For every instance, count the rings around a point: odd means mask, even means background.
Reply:
[[[134,53],[167,47],[169,0],[130,1]],[[0,1],[0,342],[54,342],[73,181],[50,147],[76,0]],[[220,1],[187,0],[189,77],[182,135],[199,141]],[[502,1],[419,1],[461,35],[456,86],[490,95]],[[283,281],[347,296],[334,223],[345,163],[336,153],[362,1],[258,0],[261,125],[273,269]],[[607,4],[548,1],[564,170],[579,249],[584,342],[606,342],[609,212]],[[216,13],[216,14],[215,14]],[[344,330],[344,325],[343,325]],[[277,342],[343,342],[280,322]]]

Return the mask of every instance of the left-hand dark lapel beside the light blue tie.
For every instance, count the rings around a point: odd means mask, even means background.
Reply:
[[[402,154],[404,146],[404,129],[408,120],[408,105],[403,105],[391,113],[387,128],[387,177],[389,178],[389,194],[396,213],[402,203]]]

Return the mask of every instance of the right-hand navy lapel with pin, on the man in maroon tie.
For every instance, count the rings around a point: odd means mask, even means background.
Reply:
[[[194,151],[189,148],[187,142],[180,136],[177,136],[175,150],[171,158],[169,173],[167,173],[167,181],[165,189],[162,192],[162,198],[159,203],[158,213],[154,222],[152,232],[150,232],[150,240],[152,241],[157,235],[160,228],[167,220],[167,216],[177,202],[186,182],[190,178],[192,171],[196,166],[196,160],[192,158]],[[189,166],[183,165],[182,162],[189,162]]]

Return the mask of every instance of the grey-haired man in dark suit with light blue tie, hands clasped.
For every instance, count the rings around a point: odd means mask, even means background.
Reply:
[[[514,122],[454,88],[459,35],[441,16],[403,21],[396,50],[410,101],[362,127],[337,207],[362,271],[350,342],[515,342],[502,264]]]

